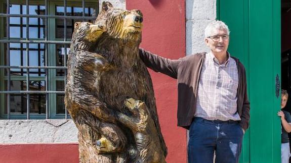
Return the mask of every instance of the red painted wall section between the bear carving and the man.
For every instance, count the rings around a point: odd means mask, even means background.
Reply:
[[[141,47],[159,56],[178,59],[185,56],[184,0],[127,0],[127,9],[143,13]],[[159,122],[168,146],[168,163],[187,162],[186,130],[177,127],[177,81],[150,71]]]

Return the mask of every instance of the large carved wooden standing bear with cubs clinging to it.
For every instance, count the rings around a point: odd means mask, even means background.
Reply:
[[[77,22],[65,106],[78,129],[80,162],[165,162],[152,81],[139,57],[139,10],[103,2],[94,24]]]

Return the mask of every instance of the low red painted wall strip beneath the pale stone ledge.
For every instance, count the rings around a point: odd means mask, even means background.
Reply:
[[[0,144],[1,163],[78,163],[78,144]]]

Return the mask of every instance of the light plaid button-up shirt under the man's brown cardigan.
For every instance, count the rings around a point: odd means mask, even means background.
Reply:
[[[202,65],[195,117],[206,120],[240,121],[237,112],[238,70],[236,62],[219,65],[213,53],[207,53]]]

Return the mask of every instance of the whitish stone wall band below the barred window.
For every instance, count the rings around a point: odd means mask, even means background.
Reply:
[[[0,144],[77,142],[72,120],[1,120]]]

